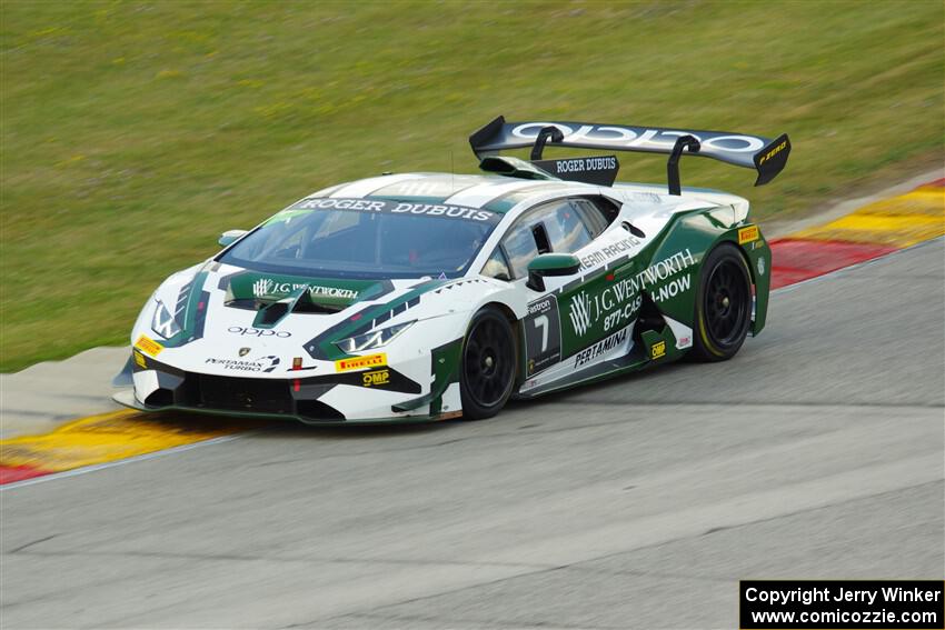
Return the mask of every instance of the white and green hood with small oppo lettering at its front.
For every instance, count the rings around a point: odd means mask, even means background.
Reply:
[[[147,336],[160,346],[151,357],[179,369],[270,373],[291,368],[295,357],[304,366],[344,359],[336,342],[368,330],[457,312],[466,304],[454,288],[484,282],[285,276],[213,261],[187,271],[156,291],[132,343]],[[273,358],[281,362],[267,363]]]

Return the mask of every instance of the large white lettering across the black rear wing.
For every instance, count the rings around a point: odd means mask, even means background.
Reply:
[[[650,149],[656,151],[672,150],[680,136],[694,136],[703,150],[712,149],[726,153],[754,153],[764,148],[760,138],[737,133],[717,134],[710,131],[686,131],[672,129],[648,129],[645,127],[626,127],[621,124],[580,124],[574,126],[561,122],[526,122],[511,130],[516,138],[535,140],[545,127],[557,127],[564,133],[564,143],[599,144],[600,147],[627,147],[634,149]],[[575,129],[577,127],[577,129]],[[777,154],[784,147],[768,152],[768,158]],[[764,160],[763,160],[764,161]],[[759,162],[760,163],[760,162]]]

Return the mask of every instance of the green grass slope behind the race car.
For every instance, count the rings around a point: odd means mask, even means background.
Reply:
[[[165,276],[307,192],[474,172],[498,113],[786,131],[765,188],[709,160],[683,181],[816,211],[942,163],[943,21],[939,0],[4,0],[0,371],[126,342]]]

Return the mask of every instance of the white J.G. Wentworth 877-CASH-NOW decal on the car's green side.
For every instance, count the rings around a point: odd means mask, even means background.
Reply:
[[[696,263],[686,249],[655,262],[635,276],[607,284],[598,293],[580,291],[568,307],[571,327],[578,337],[584,337],[603,320],[604,332],[614,330],[633,320],[643,306],[640,292],[649,291],[654,302],[675,298],[688,291],[693,284],[686,270]]]

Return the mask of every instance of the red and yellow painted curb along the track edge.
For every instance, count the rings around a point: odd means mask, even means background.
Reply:
[[[770,241],[772,289],[858,267],[945,234],[945,179],[868,203],[819,227]],[[0,489],[82,474],[229,441],[263,423],[122,410],[40,436],[0,440]]]

